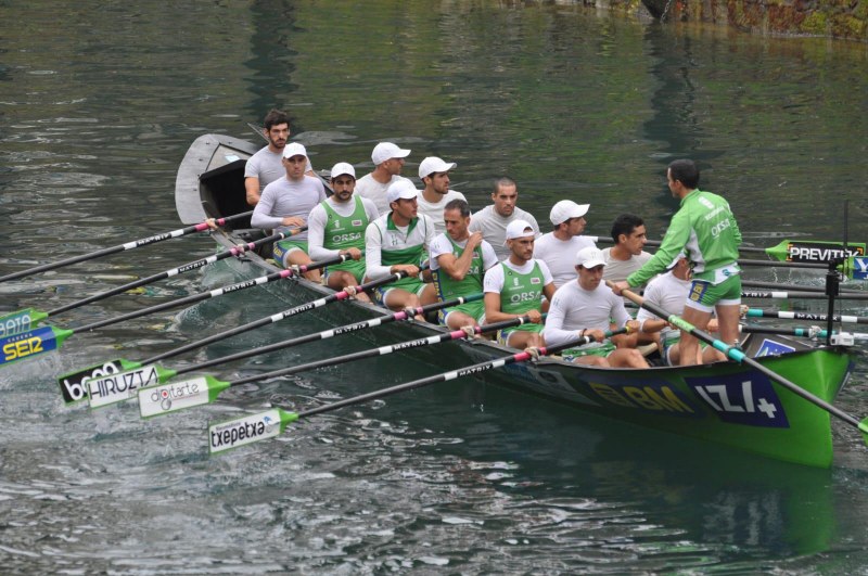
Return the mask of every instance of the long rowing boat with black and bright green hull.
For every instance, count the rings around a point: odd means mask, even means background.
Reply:
[[[193,142],[181,162],[175,201],[181,221],[200,222],[248,209],[244,200],[244,165],[258,148],[222,135],[206,135]],[[248,241],[259,232],[248,222],[215,233],[224,247]],[[273,272],[275,265],[259,254],[230,260],[243,277]],[[265,286],[279,298],[302,304],[331,291],[307,280]],[[383,308],[349,300],[315,311],[332,323],[356,322],[387,313]],[[414,338],[442,334],[441,327],[398,322],[382,327],[394,336]],[[363,334],[363,336],[362,336]],[[373,336],[371,335],[373,334]],[[372,330],[359,337],[382,338]],[[445,344],[447,348],[420,348],[416,361],[437,371],[471,362],[506,357],[515,350],[480,341]],[[845,348],[812,347],[783,336],[751,335],[745,351],[766,368],[799,383],[820,399],[832,402],[853,364]],[[832,462],[830,414],[796,396],[750,367],[719,362],[700,367],[655,367],[644,370],[603,369],[541,358],[485,372],[484,380],[583,410],[668,433],[727,445],[766,457],[812,466]]]

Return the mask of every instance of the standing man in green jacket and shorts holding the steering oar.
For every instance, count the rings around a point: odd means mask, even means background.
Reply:
[[[693,161],[678,159],[669,164],[666,179],[672,195],[681,201],[681,207],[673,216],[654,257],[626,281],[617,282],[616,292],[644,284],[684,251],[693,266],[693,280],[682,318],[705,330],[712,311],[716,311],[720,340],[731,344],[739,335],[741,304],[738,266],[741,232],[736,218],[726,200],[699,190],[699,169]],[[681,366],[697,363],[698,346],[695,336],[682,331]]]

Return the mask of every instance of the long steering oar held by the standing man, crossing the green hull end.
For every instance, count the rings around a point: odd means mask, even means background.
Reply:
[[[611,282],[607,282],[607,284],[610,287],[612,287],[612,283]],[[790,382],[789,380],[787,380],[786,377],[781,376],[777,372],[775,372],[773,370],[769,370],[768,368],[764,367],[763,364],[761,364],[760,362],[757,362],[753,358],[748,357],[740,349],[738,349],[736,347],[732,347],[729,344],[715,338],[714,336],[712,336],[707,332],[699,330],[693,324],[691,324],[689,322],[686,322],[681,317],[676,316],[676,315],[671,315],[666,310],[661,308],[660,306],[646,302],[644,298],[642,298],[638,294],[636,294],[634,292],[630,292],[629,290],[623,290],[623,291],[621,291],[621,293],[622,293],[622,295],[624,295],[627,298],[631,299],[633,302],[635,302],[636,304],[638,304],[639,306],[641,306],[646,310],[659,316],[660,318],[665,318],[666,321],[669,322],[671,324],[673,324],[674,327],[676,327],[676,328],[678,328],[680,330],[684,330],[688,334],[692,334],[693,336],[698,337],[699,340],[701,340],[703,342],[706,342],[706,343],[711,344],[715,349],[720,350],[722,353],[724,353],[724,355],[726,355],[727,358],[730,358],[730,359],[732,359],[732,360],[735,360],[735,361],[737,361],[739,363],[743,363],[743,364],[750,366],[751,368],[753,368],[757,372],[761,372],[761,373],[765,374],[769,379],[771,379],[775,382],[779,383],[781,386],[783,386],[784,388],[789,389],[793,394],[795,394],[797,396],[801,396],[802,398],[804,398],[805,400],[809,401],[814,406],[816,406],[816,407],[818,407],[818,408],[820,408],[822,410],[826,410],[827,412],[829,412],[833,417],[846,422],[847,424],[851,424],[851,425],[855,426],[856,428],[859,430],[859,432],[861,432],[863,439],[865,440],[866,444],[868,444],[868,418],[863,419],[861,421],[857,420],[855,417],[844,412],[840,408],[837,408],[837,407],[832,406],[831,404],[827,402],[822,398],[818,398],[817,396],[815,396],[814,394],[809,393],[808,391],[806,391],[806,389],[802,388],[801,386]]]

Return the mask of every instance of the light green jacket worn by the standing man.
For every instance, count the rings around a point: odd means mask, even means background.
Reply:
[[[712,278],[714,270],[739,258],[741,231],[729,203],[711,192],[693,190],[681,199],[681,207],[672,217],[669,228],[654,256],[627,278],[630,286],[640,286],[664,271],[679,252],[685,251],[693,265],[693,278]]]

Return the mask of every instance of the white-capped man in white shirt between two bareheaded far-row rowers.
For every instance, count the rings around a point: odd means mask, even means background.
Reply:
[[[546,263],[554,279],[554,286],[561,287],[576,279],[576,253],[585,247],[596,248],[588,236],[583,236],[590,204],[576,204],[572,200],[562,200],[554,204],[549,213],[553,230],[542,234],[534,245],[534,258]]]

